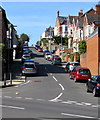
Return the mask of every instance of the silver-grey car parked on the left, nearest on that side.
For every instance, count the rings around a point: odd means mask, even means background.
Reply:
[[[25,62],[22,66],[22,74],[23,75],[30,75],[30,74],[37,74],[37,68],[35,63]]]

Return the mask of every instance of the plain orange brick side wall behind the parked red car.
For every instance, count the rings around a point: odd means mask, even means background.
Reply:
[[[99,45],[98,34],[94,35],[87,40],[87,53],[81,55],[80,64],[83,67],[88,67],[91,70],[92,75],[98,75],[99,66],[98,66],[98,56],[100,56],[98,49]]]

